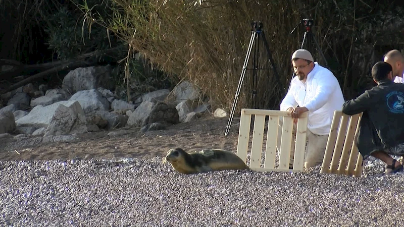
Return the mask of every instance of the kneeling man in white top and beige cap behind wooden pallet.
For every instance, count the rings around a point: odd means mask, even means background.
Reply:
[[[295,119],[301,113],[309,111],[305,168],[310,168],[322,164],[334,111],[341,110],[345,100],[334,74],[314,62],[308,50],[296,50],[292,54],[291,61],[296,76],[292,79],[290,89],[280,104],[280,110],[290,111]],[[282,127],[282,124],[280,126]],[[296,124],[293,130],[294,136],[295,130]],[[294,142],[291,147],[290,168],[293,166],[292,151]]]

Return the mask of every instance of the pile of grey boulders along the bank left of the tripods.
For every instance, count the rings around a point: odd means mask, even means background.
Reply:
[[[74,136],[122,127],[162,130],[210,111],[188,81],[173,90],[131,94],[128,102],[125,91],[115,89],[114,70],[110,65],[78,68],[65,76],[61,88],[28,84],[2,95],[7,106],[0,109],[0,138]],[[227,113],[218,109],[214,116]]]

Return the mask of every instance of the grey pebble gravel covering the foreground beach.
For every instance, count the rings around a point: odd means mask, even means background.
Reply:
[[[397,226],[404,175],[221,171],[151,160],[0,161],[0,226]]]

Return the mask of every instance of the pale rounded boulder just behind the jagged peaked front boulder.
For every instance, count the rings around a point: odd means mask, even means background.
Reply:
[[[83,107],[86,115],[99,110],[109,110],[110,102],[97,89],[78,91],[69,99],[69,101],[78,101]]]

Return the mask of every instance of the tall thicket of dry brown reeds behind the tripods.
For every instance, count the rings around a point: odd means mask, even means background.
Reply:
[[[34,0],[21,2],[29,1]],[[392,34],[400,26],[394,20],[403,11],[398,3],[376,0],[104,0],[103,3],[108,3],[112,15],[101,18],[88,6],[85,19],[108,28],[125,40],[133,53],[140,51],[177,82],[189,80],[198,86],[214,108],[231,108],[251,35],[251,21],[263,22],[282,86],[277,85],[267,51],[260,42],[258,67],[269,70],[260,70],[257,77],[259,103],[257,106],[251,103],[254,86],[251,71],[247,70],[238,110],[278,108],[283,89],[288,87],[292,76],[290,55],[300,48],[305,28],[300,25],[293,34],[290,31],[302,18],[314,19],[315,37],[346,98],[355,96],[370,81],[366,76],[379,60],[380,53],[375,53],[377,45],[394,43],[399,48],[403,44],[401,34]],[[380,21],[387,26],[377,26]],[[385,40],[390,42],[386,44]],[[312,52],[325,65],[318,51]],[[126,60],[130,58],[132,54]],[[251,62],[252,53],[248,68]],[[126,79],[129,75],[127,72]]]

